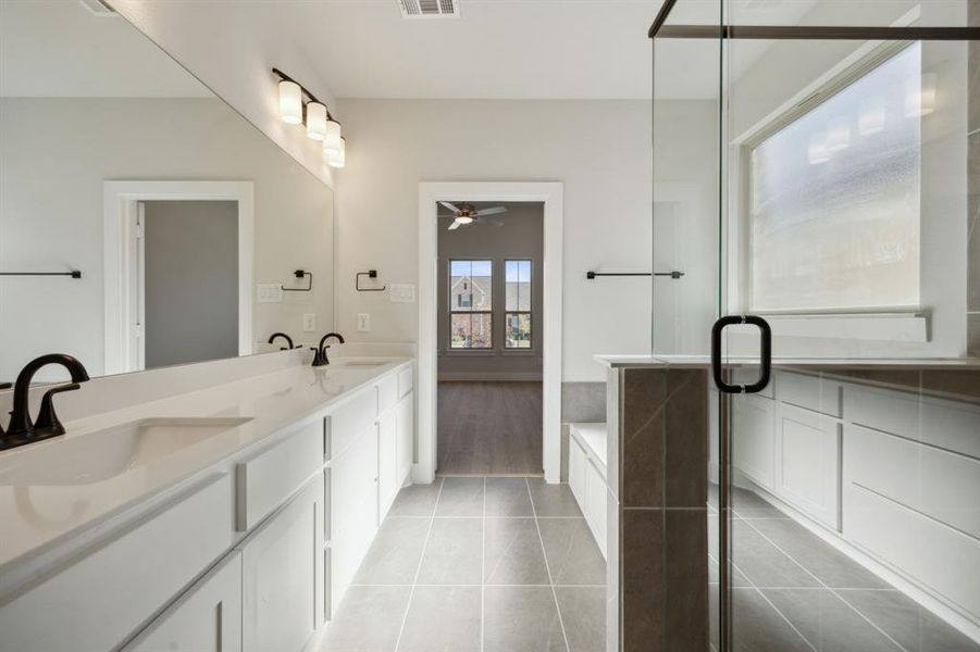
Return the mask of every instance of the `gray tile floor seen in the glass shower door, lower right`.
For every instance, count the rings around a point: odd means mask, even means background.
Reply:
[[[978,652],[980,645],[755,493],[735,490],[736,650]],[[717,512],[709,513],[717,605]],[[717,641],[717,622],[711,640]]]

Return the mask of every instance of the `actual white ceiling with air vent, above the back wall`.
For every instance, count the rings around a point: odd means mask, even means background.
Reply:
[[[334,98],[645,99],[646,35],[662,0],[460,0],[459,17],[437,20],[404,20],[397,0],[112,1],[151,33],[209,39],[208,57],[224,66],[259,52]],[[785,24],[816,0],[730,2],[742,21]],[[674,11],[710,22],[717,9],[718,0],[681,0]],[[714,97],[714,48],[665,42],[658,97]],[[733,75],[755,60],[752,50]],[[195,71],[220,66],[178,58]]]

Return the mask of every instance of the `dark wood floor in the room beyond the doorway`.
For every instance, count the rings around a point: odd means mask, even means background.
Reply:
[[[439,383],[444,475],[541,474],[541,383]]]

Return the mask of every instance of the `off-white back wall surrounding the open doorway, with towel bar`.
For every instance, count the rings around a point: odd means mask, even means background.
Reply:
[[[565,184],[565,381],[605,380],[596,353],[649,353],[650,286],[586,280],[588,269],[649,271],[652,152],[648,101],[342,100],[350,135],[337,198],[337,326],[353,341],[415,341],[418,305],[358,293],[353,275],[418,283],[420,181]],[[709,102],[667,102],[679,128],[660,178],[711,187]],[[356,333],[356,314],[372,331]]]

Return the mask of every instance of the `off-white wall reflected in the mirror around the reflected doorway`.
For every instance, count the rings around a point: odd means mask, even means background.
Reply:
[[[256,338],[332,327],[333,191],[220,100],[5,98],[0,141],[0,268],[83,272],[0,280],[0,380],[52,351],[102,373],[104,180],[253,181],[256,281],[315,290],[257,303]]]

